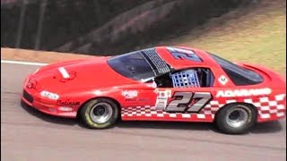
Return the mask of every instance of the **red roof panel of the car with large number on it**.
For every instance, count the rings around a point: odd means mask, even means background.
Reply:
[[[204,50],[191,47],[155,47],[156,52],[161,58],[170,64],[174,69],[184,69],[188,67],[220,67],[213,58]],[[172,53],[180,55],[175,57]],[[190,59],[191,55],[197,55],[202,61]],[[181,56],[183,55],[183,56]],[[186,55],[186,58],[185,58]],[[196,56],[196,57],[197,57]]]

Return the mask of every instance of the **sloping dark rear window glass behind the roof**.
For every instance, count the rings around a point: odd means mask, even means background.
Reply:
[[[222,66],[222,69],[230,77],[235,85],[251,85],[263,81],[261,75],[237,64],[233,64],[222,57],[210,54],[213,59]]]

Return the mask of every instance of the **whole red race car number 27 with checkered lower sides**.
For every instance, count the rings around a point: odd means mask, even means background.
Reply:
[[[282,76],[262,66],[196,48],[152,47],[43,66],[25,80],[22,101],[95,129],[121,118],[214,122],[239,134],[284,118],[285,88]]]

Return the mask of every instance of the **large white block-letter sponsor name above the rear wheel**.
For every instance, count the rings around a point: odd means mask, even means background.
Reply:
[[[270,95],[272,89],[235,89],[235,90],[219,90],[216,97],[250,97],[259,95]]]

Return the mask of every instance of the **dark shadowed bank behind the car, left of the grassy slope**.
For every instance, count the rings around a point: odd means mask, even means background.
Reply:
[[[114,55],[148,44],[157,44],[158,41],[173,35],[181,35],[210,18],[220,17],[240,5],[248,4],[249,1],[5,0],[1,2],[1,47],[18,45],[19,48],[25,49]],[[25,5],[23,2],[26,2]],[[21,15],[23,6],[25,8]],[[22,36],[17,44],[21,19],[23,19]],[[39,47],[35,47],[38,36]]]

